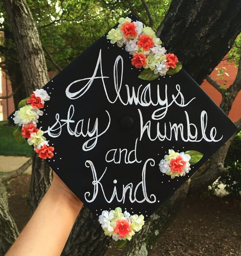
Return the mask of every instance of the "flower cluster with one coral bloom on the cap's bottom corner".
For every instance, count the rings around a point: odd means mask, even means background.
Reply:
[[[115,210],[103,211],[99,222],[105,235],[112,236],[115,241],[130,240],[144,225],[144,216],[130,215],[127,211],[122,213],[121,208],[117,207]]]

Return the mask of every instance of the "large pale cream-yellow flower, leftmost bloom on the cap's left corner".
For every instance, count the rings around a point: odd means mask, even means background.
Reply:
[[[29,124],[38,123],[38,114],[31,105],[26,105],[21,107],[19,110],[15,111],[13,121],[19,126],[28,126]]]

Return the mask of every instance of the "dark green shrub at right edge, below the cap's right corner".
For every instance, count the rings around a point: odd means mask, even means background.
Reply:
[[[224,166],[229,173],[219,177],[217,182],[211,185],[211,191],[218,189],[218,185],[224,184],[225,191],[233,197],[241,197],[241,132],[233,139]]]

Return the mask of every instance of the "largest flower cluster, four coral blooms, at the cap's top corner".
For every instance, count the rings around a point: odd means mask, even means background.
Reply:
[[[173,53],[166,53],[162,41],[156,33],[142,22],[132,22],[130,18],[120,18],[117,29],[111,29],[106,37],[118,47],[133,55],[131,63],[135,68],[150,68],[154,74],[165,76],[169,69],[176,68],[178,59]],[[178,72],[178,71],[177,71]]]

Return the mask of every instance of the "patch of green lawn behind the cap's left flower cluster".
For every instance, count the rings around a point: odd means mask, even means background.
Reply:
[[[7,121],[0,121],[0,155],[2,156],[32,156],[32,147],[24,141],[18,144],[13,138],[14,126]]]

